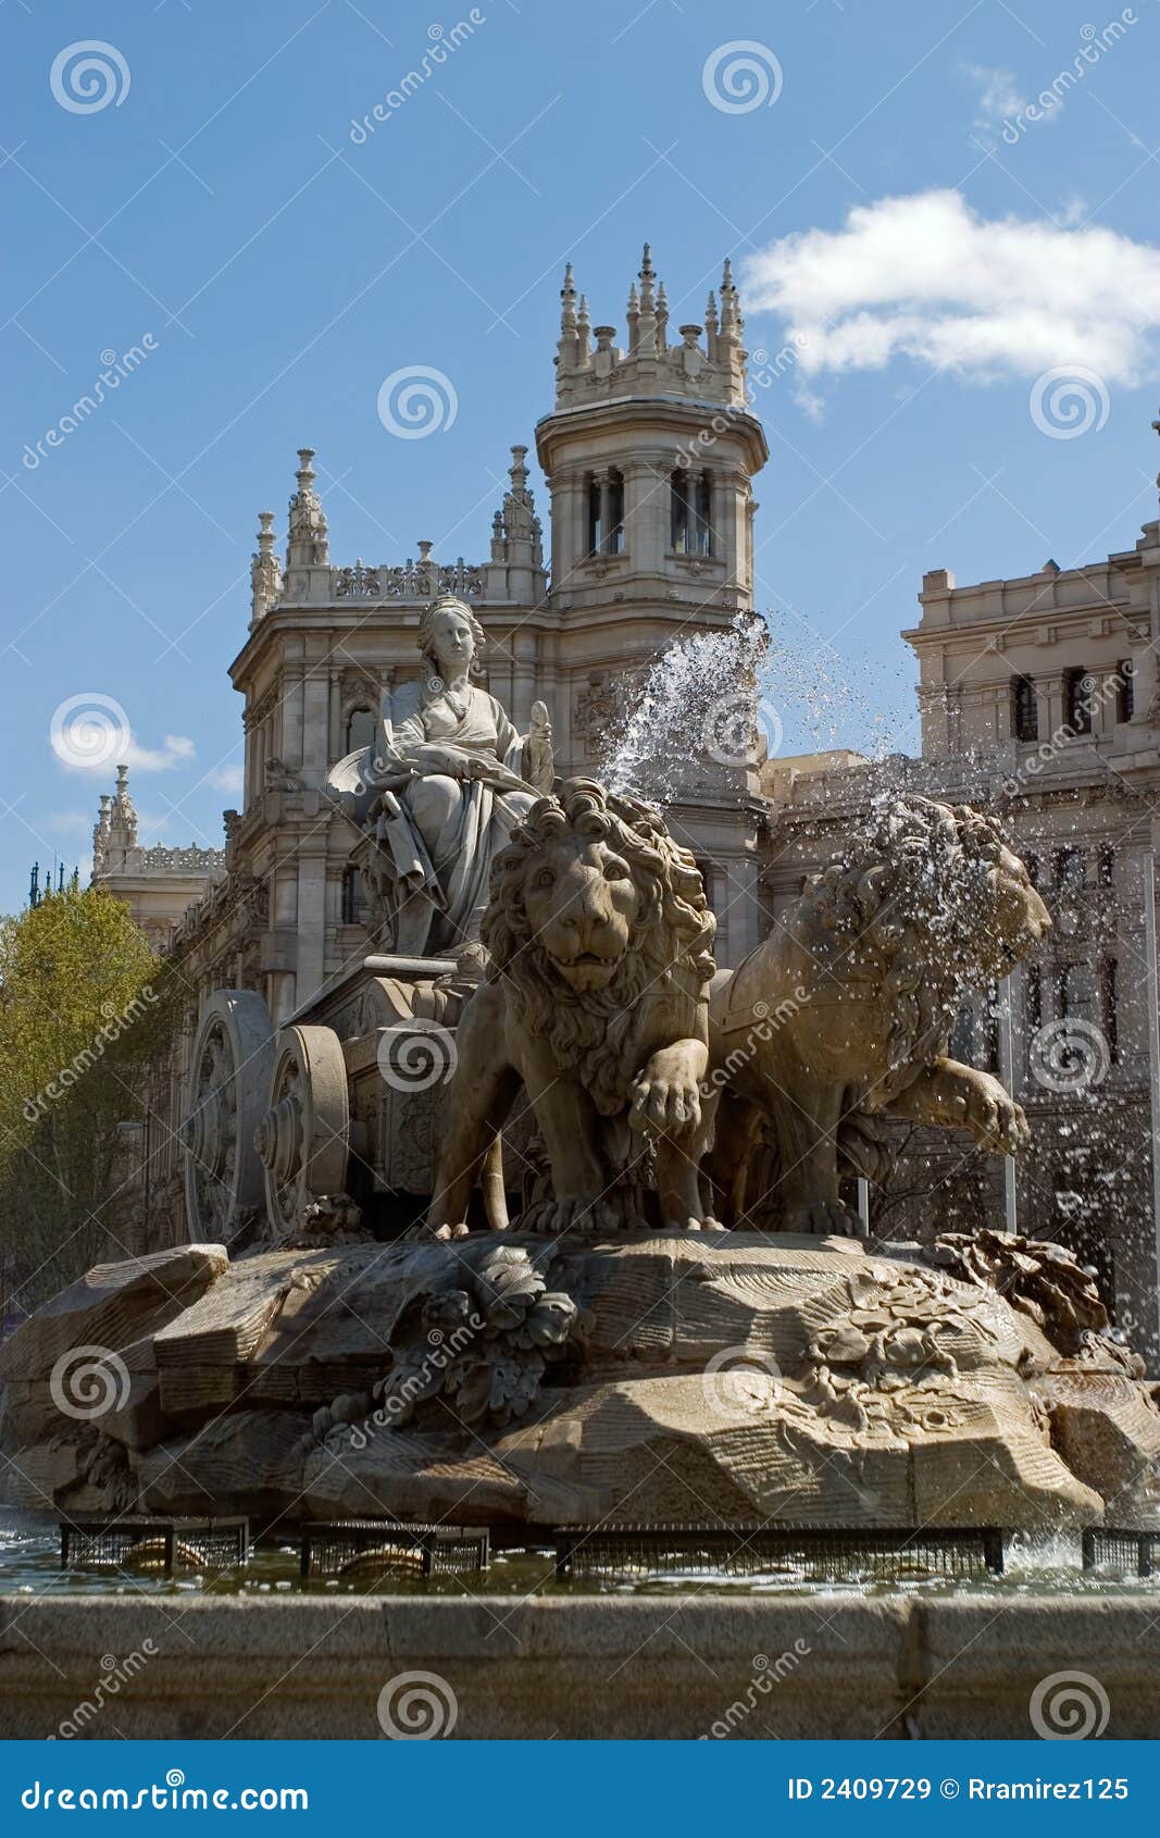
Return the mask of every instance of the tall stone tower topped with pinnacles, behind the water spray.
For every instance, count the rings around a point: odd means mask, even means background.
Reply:
[[[752,478],[768,447],[748,406],[743,323],[728,261],[704,325],[673,336],[645,243],[623,346],[616,327],[590,325],[572,265],[564,274],[555,408],[535,432],[552,493],[550,603],[566,676],[555,719],[574,772],[599,763],[634,680],[671,643],[752,610]],[[702,866],[722,963],[761,936],[754,790],[745,761],[710,759],[667,812]]]

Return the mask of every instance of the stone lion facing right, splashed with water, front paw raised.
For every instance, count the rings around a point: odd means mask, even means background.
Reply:
[[[1024,1149],[1022,1108],[947,1048],[963,994],[1006,976],[1050,926],[993,818],[928,798],[882,805],[770,937],[713,980],[706,1092],[721,1097],[722,1217],[759,1198],[746,1187],[765,1152],[783,1230],[859,1231],[838,1174],[870,1171],[857,1149],[873,1145],[879,1118],[960,1125],[996,1154]]]

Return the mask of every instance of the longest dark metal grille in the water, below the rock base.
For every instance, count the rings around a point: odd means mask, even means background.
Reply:
[[[1000,1575],[1004,1537],[991,1526],[859,1531],[816,1526],[563,1526],[557,1575],[632,1577],[717,1570],[752,1577],[800,1570],[809,1581]]]

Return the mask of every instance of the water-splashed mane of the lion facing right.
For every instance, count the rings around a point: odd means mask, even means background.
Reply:
[[[803,899],[835,934],[842,978],[866,980],[888,1007],[890,1072],[945,1051],[965,991],[1028,948],[1000,925],[1004,847],[1000,823],[969,805],[892,798],[809,882]]]

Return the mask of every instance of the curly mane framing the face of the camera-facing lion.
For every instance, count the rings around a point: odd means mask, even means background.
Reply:
[[[632,947],[601,991],[568,989],[528,921],[528,873],[539,849],[568,831],[623,855],[640,895]],[[566,779],[559,794],[531,807],[496,857],[482,937],[489,978],[504,983],[520,1026],[548,1042],[563,1070],[579,1070],[601,1116],[614,1116],[640,1070],[632,1057],[640,1004],[682,994],[693,1026],[715,969],[715,925],[697,864],[673,842],[658,811],[594,779]]]

